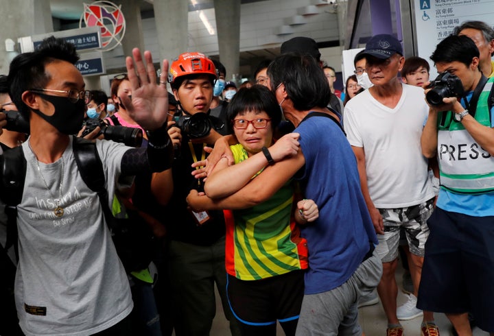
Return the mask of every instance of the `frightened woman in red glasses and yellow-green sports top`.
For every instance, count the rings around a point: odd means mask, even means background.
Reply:
[[[228,167],[225,159],[217,163],[205,184],[211,197],[231,195],[261,173],[259,167],[266,165],[264,153],[274,143],[273,131],[281,113],[269,89],[255,85],[242,88],[233,97],[228,119],[238,140],[231,146],[235,165]],[[270,147],[268,156],[279,159],[296,147],[295,142],[290,136],[283,137],[277,147]],[[197,191],[191,191],[187,201],[202,210],[215,208],[213,200]],[[266,202],[251,206],[239,200],[231,208],[237,210],[225,215],[227,293],[242,335],[276,335],[277,320],[286,335],[295,335],[307,242],[300,237],[294,219],[299,224],[314,221],[318,217],[316,204],[296,202],[294,184],[288,181]]]

